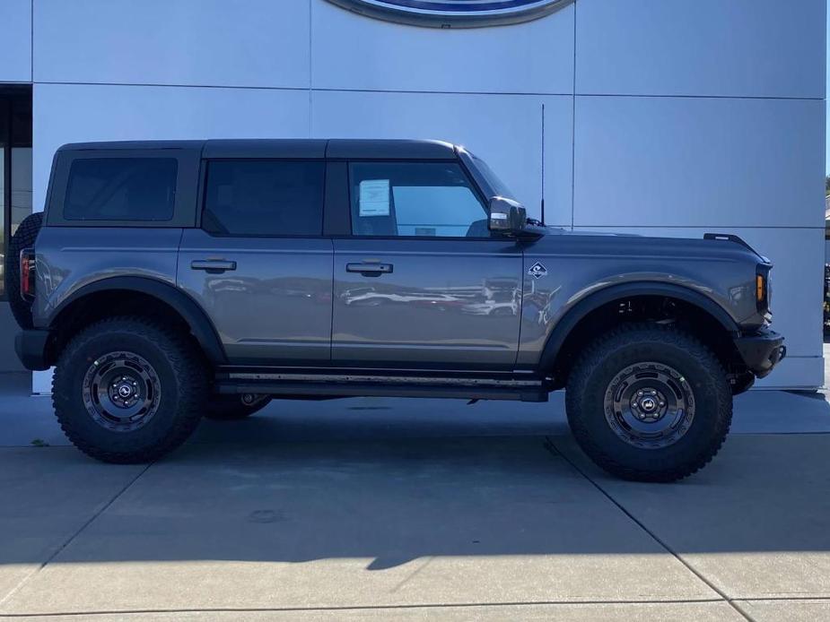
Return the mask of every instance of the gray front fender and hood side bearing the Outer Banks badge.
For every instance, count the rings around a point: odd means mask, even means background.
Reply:
[[[737,244],[554,231],[525,249],[520,367],[537,365],[548,336],[573,307],[625,283],[679,286],[712,300],[736,325],[761,322],[753,289],[760,258]],[[535,263],[546,276],[529,274]]]

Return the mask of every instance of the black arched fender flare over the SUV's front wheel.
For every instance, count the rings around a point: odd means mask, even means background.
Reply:
[[[562,349],[568,335],[592,311],[596,311],[599,307],[607,305],[616,299],[631,296],[665,296],[667,298],[677,298],[690,305],[699,307],[709,315],[712,315],[723,326],[724,330],[733,336],[737,337],[740,333],[738,324],[726,309],[712,300],[712,298],[707,298],[702,293],[695,291],[695,289],[659,281],[620,283],[618,285],[609,285],[590,293],[568,310],[548,335],[545,348],[542,350],[542,356],[539,358],[539,368],[549,370],[554,367],[556,356],[559,354],[559,350]]]

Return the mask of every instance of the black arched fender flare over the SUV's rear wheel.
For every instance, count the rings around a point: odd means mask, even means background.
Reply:
[[[173,308],[182,319],[188,323],[190,332],[196,337],[207,359],[214,365],[223,365],[227,362],[222,341],[219,333],[216,332],[214,323],[205,314],[202,307],[190,298],[185,292],[164,282],[150,277],[140,276],[114,276],[94,281],[74,291],[63,300],[50,315],[50,327],[57,321],[61,313],[74,302],[100,291],[113,289],[126,289],[136,291],[158,298],[163,303]]]

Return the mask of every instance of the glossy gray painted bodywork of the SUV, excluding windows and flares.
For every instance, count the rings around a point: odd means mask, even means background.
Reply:
[[[157,149],[157,143],[148,146]],[[263,150],[313,155],[324,143],[223,146],[239,157]],[[83,146],[76,152],[91,151]],[[418,141],[331,141],[328,152],[335,158],[384,153],[415,161],[441,154],[459,158],[451,144]],[[67,147],[64,154],[71,159],[74,151]],[[473,179],[486,177],[476,171],[479,160],[464,160]],[[194,187],[185,187],[188,203],[182,209],[196,220],[196,182],[190,183]],[[347,194],[345,180],[342,184],[327,194]],[[495,192],[486,185],[478,191]],[[328,196],[327,218],[348,209]],[[344,218],[341,213],[334,220]],[[563,320],[572,320],[574,307],[620,284],[661,283],[690,292],[726,317],[730,333],[763,323],[754,292],[762,258],[738,244],[564,229],[536,233],[538,238],[523,241],[265,238],[214,236],[194,228],[47,226],[36,246],[33,313],[37,326],[52,325],[56,310],[85,286],[138,276],[177,286],[196,301],[232,364],[519,369],[545,375],[550,367],[539,363],[556,327],[562,323],[572,330]],[[382,271],[370,270],[379,265]],[[638,293],[652,292],[627,292]],[[546,366],[553,353],[546,354]]]

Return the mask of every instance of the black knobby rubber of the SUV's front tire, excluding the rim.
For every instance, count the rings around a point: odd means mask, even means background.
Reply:
[[[673,445],[630,445],[606,419],[609,383],[644,361],[677,369],[695,394],[694,419]],[[659,324],[624,324],[598,337],[572,368],[565,405],[582,450],[605,471],[636,481],[676,481],[700,470],[721,449],[732,420],[732,394],[720,361],[693,335]]]

